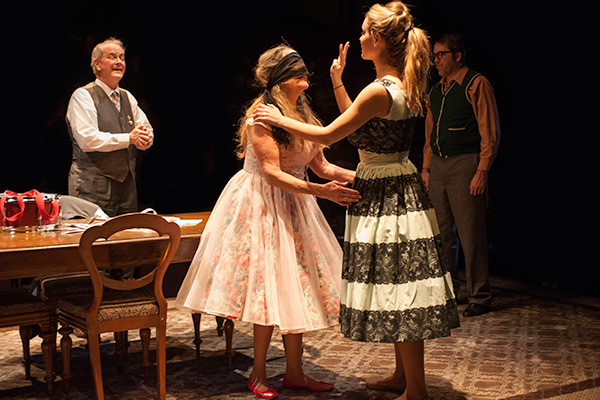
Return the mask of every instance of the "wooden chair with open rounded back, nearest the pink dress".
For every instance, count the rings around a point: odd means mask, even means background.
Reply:
[[[159,236],[167,235],[166,248],[160,252],[157,267],[139,279],[115,280],[108,274],[100,273],[94,256],[110,260],[110,246],[102,243],[93,246],[98,239],[108,239],[114,233],[132,229],[151,229]],[[63,380],[68,391],[70,381],[70,350],[72,327],[77,327],[88,336],[90,361],[96,395],[104,399],[102,370],[100,365],[99,335],[104,332],[125,332],[140,330],[144,367],[151,365],[148,355],[150,328],[156,328],[156,371],[158,397],[166,397],[166,322],[167,302],[163,295],[163,277],[180,241],[180,228],[175,222],[153,214],[126,214],[115,217],[103,225],[86,230],[79,242],[79,253],[85,263],[93,285],[93,296],[82,294],[59,299],[57,302],[58,320],[61,323],[61,350],[63,353]],[[118,252],[117,252],[118,253]],[[135,260],[134,260],[135,261]]]

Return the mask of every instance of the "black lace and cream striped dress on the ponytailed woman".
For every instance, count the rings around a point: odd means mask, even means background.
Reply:
[[[353,187],[362,199],[346,215],[342,333],[386,343],[449,336],[459,326],[452,280],[433,206],[408,159],[415,118],[394,81],[377,82],[393,99],[389,114],[349,136],[360,155]]]

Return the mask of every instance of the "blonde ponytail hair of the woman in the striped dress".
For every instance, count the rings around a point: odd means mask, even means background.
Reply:
[[[365,17],[370,33],[379,33],[385,39],[388,62],[404,82],[408,108],[422,115],[431,67],[427,33],[414,26],[409,8],[401,1],[375,4]]]

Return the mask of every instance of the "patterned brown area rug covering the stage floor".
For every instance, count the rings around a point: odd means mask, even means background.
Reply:
[[[588,400],[600,399],[600,299],[536,292],[494,279],[493,311],[462,318],[452,336],[426,342],[426,378],[432,400]],[[460,306],[460,311],[464,309]],[[223,355],[225,338],[213,317],[203,316],[201,358],[195,359],[189,314],[171,308],[168,315],[168,399],[253,399],[246,388],[252,366],[252,326],[236,323],[232,369]],[[33,380],[24,379],[18,330],[0,330],[0,398],[47,399],[40,338],[31,341]],[[154,333],[153,333],[154,335]],[[102,335],[102,367],[107,399],[155,398],[155,370],[145,378],[141,346],[130,332],[125,372],[113,362],[112,334]],[[268,372],[280,399],[395,399],[400,394],[376,392],[365,378],[393,370],[391,345],[356,343],[339,328],[304,336],[304,369],[332,382],[335,391],[312,394],[282,388],[285,354],[281,335],[273,335]],[[57,376],[53,399],[93,399],[94,385],[86,341],[74,337],[72,388],[64,393]],[[151,343],[151,349],[154,343]],[[152,357],[154,355],[152,354]],[[60,365],[60,362],[59,362]]]

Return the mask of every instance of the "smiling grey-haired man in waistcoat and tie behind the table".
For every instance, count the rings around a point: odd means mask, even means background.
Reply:
[[[137,100],[119,87],[125,47],[115,38],[92,51],[96,79],[75,90],[67,108],[73,144],[69,195],[97,204],[110,216],[138,211],[135,180],[138,150],[154,133]]]

